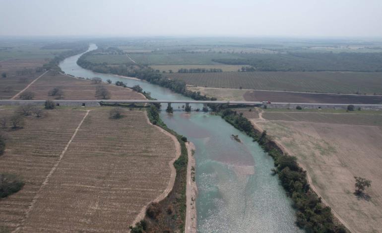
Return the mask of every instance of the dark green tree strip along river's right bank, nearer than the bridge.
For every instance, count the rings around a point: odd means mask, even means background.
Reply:
[[[215,106],[215,110],[219,111],[219,108]],[[296,157],[285,154],[266,131],[261,133],[256,130],[242,113],[221,108],[219,113],[227,122],[257,141],[273,157],[275,169],[272,171],[278,175],[282,186],[294,201],[296,222],[300,228],[315,233],[346,233],[345,228],[334,220],[330,207],[325,206],[310,188],[306,172],[298,165]]]

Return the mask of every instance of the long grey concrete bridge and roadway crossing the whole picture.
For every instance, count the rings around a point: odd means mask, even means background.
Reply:
[[[346,109],[349,104],[317,104],[317,103],[271,103],[271,104],[262,104],[258,101],[200,101],[200,100],[54,100],[54,102],[59,106],[69,106],[69,107],[96,107],[100,106],[102,103],[107,104],[118,104],[118,103],[127,103],[127,104],[150,104],[150,103],[167,103],[167,104],[229,104],[229,105],[266,105],[267,108],[276,108],[276,109],[295,109],[297,106],[302,107],[303,109]],[[0,106],[7,105],[24,105],[24,104],[33,104],[33,105],[44,105],[45,100],[0,100]],[[353,104],[354,107],[361,108],[363,110],[382,110],[382,104],[380,105],[366,105],[366,104]]]

